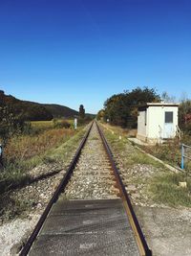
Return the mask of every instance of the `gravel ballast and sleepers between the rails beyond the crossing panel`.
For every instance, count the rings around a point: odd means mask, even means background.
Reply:
[[[117,198],[117,194],[113,171],[94,124],[64,197],[103,199]]]

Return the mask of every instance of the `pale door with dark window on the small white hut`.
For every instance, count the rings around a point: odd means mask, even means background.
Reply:
[[[168,139],[174,137],[173,111],[164,112],[164,134],[163,138]]]

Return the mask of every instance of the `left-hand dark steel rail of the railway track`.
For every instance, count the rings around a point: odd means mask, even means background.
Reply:
[[[46,209],[44,210],[42,216],[40,217],[39,221],[37,222],[33,232],[32,232],[32,235],[31,237],[29,238],[29,240],[27,241],[27,243],[25,244],[25,246],[23,247],[23,249],[21,250],[20,252],[20,256],[26,256],[28,255],[28,252],[30,251],[31,247],[32,247],[32,244],[34,242],[34,240],[36,239],[39,231],[41,230],[42,228],[42,225],[44,223],[44,221],[46,220],[52,206],[53,206],[53,203],[57,200],[57,198],[59,197],[59,195],[63,192],[63,190],[66,188],[66,185],[68,184],[69,180],[70,180],[70,177],[71,175],[73,174],[73,171],[74,171],[74,167],[76,165],[76,162],[80,156],[80,153],[87,141],[87,138],[89,136],[89,133],[90,133],[90,130],[93,126],[93,123],[91,124],[90,128],[88,129],[88,131],[86,132],[86,135],[84,136],[84,138],[82,139],[81,143],[80,143],[80,146],[78,148],[78,150],[75,152],[74,154],[74,158],[66,172],[66,174],[64,175],[63,179],[61,180],[60,184],[58,185],[57,189],[55,190],[55,192],[53,193],[53,197],[51,198],[51,200],[49,201]]]

